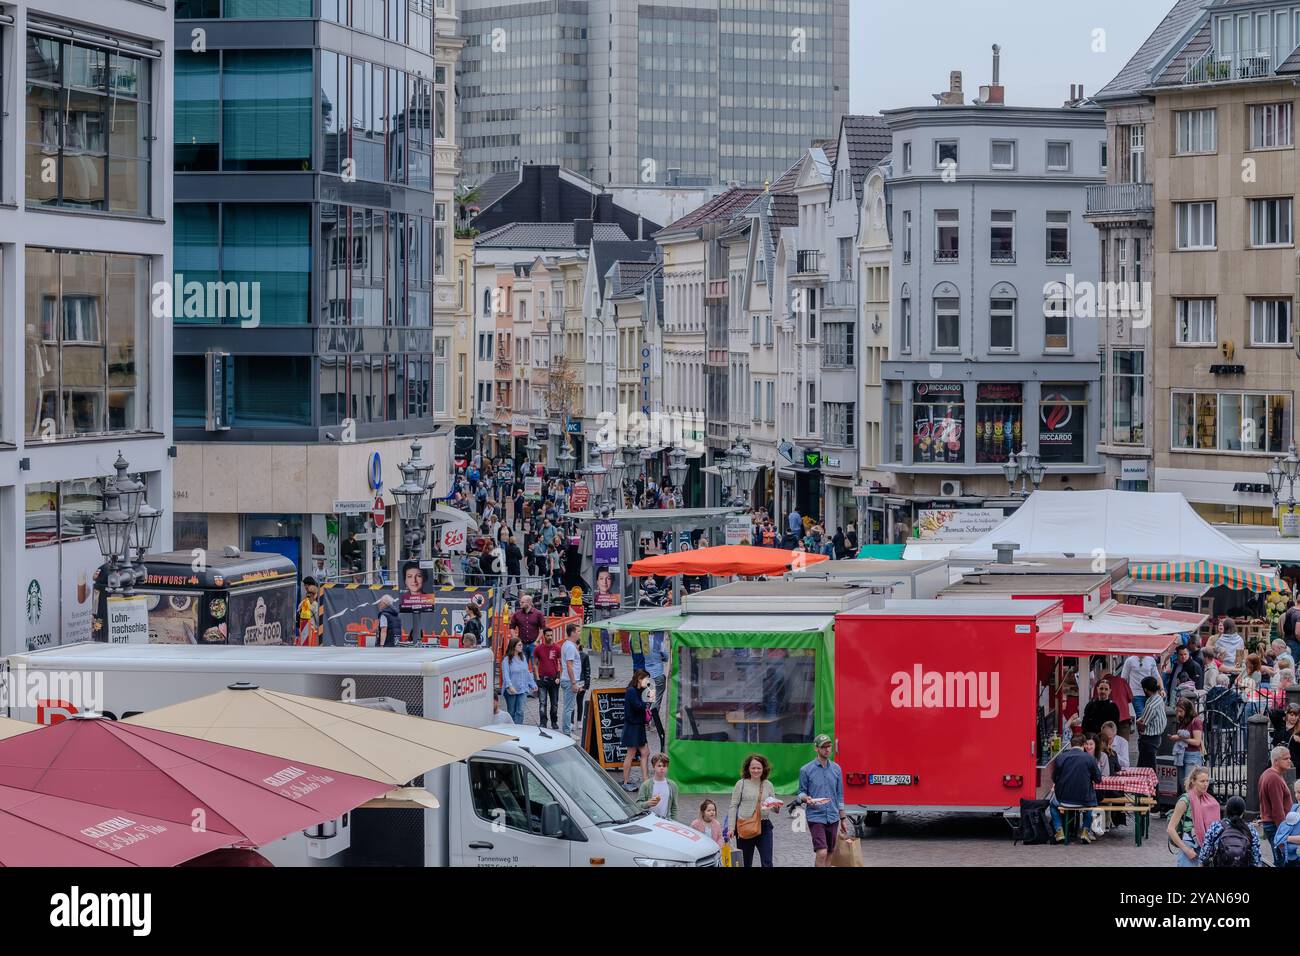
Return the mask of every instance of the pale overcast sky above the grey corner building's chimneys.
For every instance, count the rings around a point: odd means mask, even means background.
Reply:
[[[966,101],[992,82],[994,43],[1013,107],[1060,107],[1123,69],[1174,0],[853,0],[849,108],[932,107],[961,70]],[[1104,33],[1097,33],[1104,31]],[[1095,47],[1097,49],[1095,51]]]

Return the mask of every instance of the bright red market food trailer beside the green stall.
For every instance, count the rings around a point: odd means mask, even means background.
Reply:
[[[1195,617],[1195,615],[1193,615]],[[1074,631],[1060,598],[889,601],[835,622],[837,762],[850,813],[1017,813],[1050,788],[1065,659],[1161,654],[1175,635]],[[1070,678],[1072,679],[1072,678]]]

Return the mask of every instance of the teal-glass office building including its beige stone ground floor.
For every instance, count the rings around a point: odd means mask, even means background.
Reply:
[[[174,70],[177,468],[208,481],[178,507],[187,546],[334,574],[350,519],[332,499],[373,494],[346,445],[381,450],[395,485],[399,449],[450,416],[434,299],[452,281],[452,215],[434,159],[454,148],[451,10],[178,3],[178,35],[205,31]],[[278,490],[228,493],[208,479],[218,460],[269,470]]]

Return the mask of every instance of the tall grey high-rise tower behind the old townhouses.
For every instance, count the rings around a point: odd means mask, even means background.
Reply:
[[[462,0],[463,166],[775,181],[849,104],[849,0]]]

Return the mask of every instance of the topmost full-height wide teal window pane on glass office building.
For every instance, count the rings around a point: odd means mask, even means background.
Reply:
[[[222,169],[311,168],[309,51],[226,51],[221,86]]]

